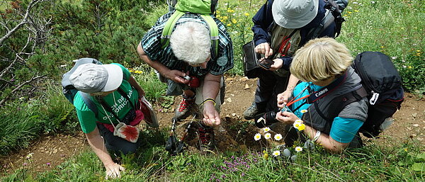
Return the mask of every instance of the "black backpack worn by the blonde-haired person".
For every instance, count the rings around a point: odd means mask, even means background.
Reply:
[[[390,125],[392,115],[404,100],[402,77],[397,72],[390,57],[382,52],[362,52],[351,65],[361,77],[361,89],[334,98],[329,107],[333,120],[350,103],[368,98],[368,118],[359,132],[365,137],[378,137],[384,125]],[[382,125],[382,123],[384,123]]]

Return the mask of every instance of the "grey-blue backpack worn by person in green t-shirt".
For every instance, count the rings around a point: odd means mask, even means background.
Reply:
[[[93,63],[93,64],[102,64],[102,62],[99,62],[97,59],[94,58],[81,58],[74,60],[75,62],[74,67],[72,67],[69,72],[66,72],[62,76],[62,92],[64,93],[64,96],[68,99],[68,101],[72,104],[74,104],[74,97],[77,94],[78,90],[75,89],[74,85],[71,84],[71,81],[69,81],[69,76],[71,76],[72,73],[75,72],[75,69],[79,67],[81,64],[87,64],[87,63]],[[83,98],[84,103],[89,107],[91,111],[96,115],[98,115],[98,110],[96,106],[94,105],[94,102],[91,101],[89,93],[80,92],[81,98]]]

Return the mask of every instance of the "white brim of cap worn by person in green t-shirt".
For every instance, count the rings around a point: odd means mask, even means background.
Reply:
[[[116,64],[102,64],[102,66],[108,72],[108,81],[101,91],[113,91],[123,82],[123,69]]]

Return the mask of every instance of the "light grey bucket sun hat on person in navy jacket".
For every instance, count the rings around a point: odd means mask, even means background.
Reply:
[[[271,13],[283,28],[302,28],[316,17],[318,8],[319,0],[276,0]]]

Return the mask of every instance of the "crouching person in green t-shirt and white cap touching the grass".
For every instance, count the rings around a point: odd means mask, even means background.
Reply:
[[[119,178],[120,171],[125,169],[112,160],[108,150],[128,154],[135,152],[139,144],[135,142],[137,137],[124,139],[125,136],[116,135],[119,131],[114,135],[114,129],[137,130],[130,125],[137,125],[143,119],[143,113],[136,107],[145,92],[121,64],[82,64],[69,76],[69,81],[79,90],[74,97],[74,106],[81,130],[103,162],[106,178]],[[96,113],[91,110],[93,107],[97,108]],[[119,127],[123,123],[125,127]]]

